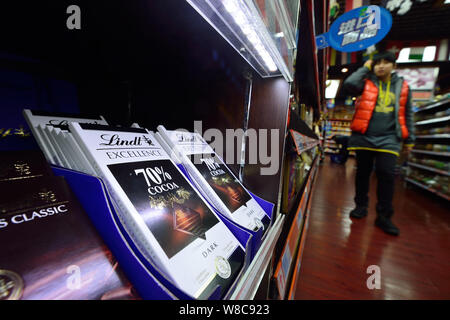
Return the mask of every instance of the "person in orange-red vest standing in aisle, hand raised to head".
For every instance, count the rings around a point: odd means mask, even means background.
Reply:
[[[360,96],[355,103],[348,147],[356,151],[357,163],[356,208],[350,217],[367,215],[369,179],[375,164],[378,180],[375,225],[388,234],[398,235],[399,229],[391,221],[395,165],[402,144],[409,153],[415,137],[411,92],[406,81],[392,72],[394,68],[395,55],[379,53],[350,75],[344,88]]]

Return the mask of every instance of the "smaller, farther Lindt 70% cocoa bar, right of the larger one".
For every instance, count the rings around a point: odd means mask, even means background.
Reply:
[[[162,145],[185,166],[196,185],[227,218],[252,231],[267,231],[270,218],[198,133],[158,126]]]

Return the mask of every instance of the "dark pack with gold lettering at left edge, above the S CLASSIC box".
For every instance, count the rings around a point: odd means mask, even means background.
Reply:
[[[0,151],[0,181],[52,175],[40,150]]]

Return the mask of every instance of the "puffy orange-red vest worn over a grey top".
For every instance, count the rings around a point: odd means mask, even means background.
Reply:
[[[370,119],[372,118],[373,110],[377,104],[378,87],[371,81],[366,80],[364,91],[360,98],[355,103],[355,114],[350,128],[352,131],[366,133],[369,127]],[[408,84],[403,81],[402,90],[400,91],[400,100],[398,110],[398,123],[402,132],[402,138],[408,138],[409,132],[406,127],[406,101],[408,100]]]

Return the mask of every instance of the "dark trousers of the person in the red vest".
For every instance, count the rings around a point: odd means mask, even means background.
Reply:
[[[387,218],[394,214],[392,199],[394,197],[395,165],[397,156],[387,152],[368,150],[356,151],[355,203],[357,206],[369,205],[370,175],[375,164],[377,175],[377,214]]]

